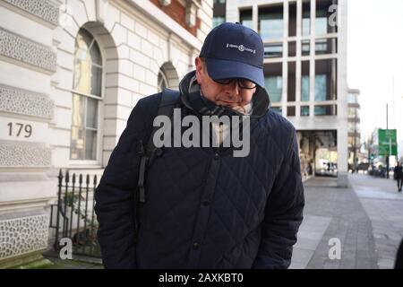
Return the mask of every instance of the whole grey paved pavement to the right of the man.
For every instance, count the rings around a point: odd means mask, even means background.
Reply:
[[[304,183],[304,222],[290,268],[393,268],[403,238],[403,193],[392,179],[354,174],[348,180],[347,188],[334,178]],[[330,259],[330,239],[339,239],[340,259]]]

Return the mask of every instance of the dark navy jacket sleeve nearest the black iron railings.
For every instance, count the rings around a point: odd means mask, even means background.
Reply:
[[[136,268],[134,201],[140,156],[136,143],[144,133],[147,111],[133,109],[95,192],[98,239],[105,268]]]

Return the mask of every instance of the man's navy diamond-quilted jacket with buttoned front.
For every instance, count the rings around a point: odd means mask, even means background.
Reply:
[[[304,208],[294,127],[266,107],[251,123],[247,157],[166,148],[148,171],[146,203],[135,209],[135,145],[147,143],[160,97],[139,100],[95,194],[105,267],[287,268]]]

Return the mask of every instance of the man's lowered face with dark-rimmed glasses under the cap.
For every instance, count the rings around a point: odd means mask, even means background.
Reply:
[[[200,57],[196,57],[195,65],[197,83],[201,86],[203,96],[208,100],[228,108],[244,107],[251,102],[256,88],[241,89],[236,81],[228,84],[214,82],[207,72],[206,63]]]

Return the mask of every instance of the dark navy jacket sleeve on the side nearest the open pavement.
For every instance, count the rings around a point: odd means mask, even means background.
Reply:
[[[253,268],[287,268],[296,233],[303,220],[304,187],[296,132],[268,197],[262,222],[262,241]]]

